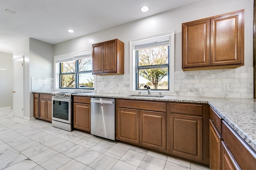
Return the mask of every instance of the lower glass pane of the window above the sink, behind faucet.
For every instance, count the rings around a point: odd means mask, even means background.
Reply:
[[[147,84],[150,89],[168,89],[168,68],[148,68],[138,70],[138,87]]]

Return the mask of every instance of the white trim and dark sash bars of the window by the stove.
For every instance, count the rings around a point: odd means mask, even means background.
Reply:
[[[54,56],[54,89],[73,89],[73,90],[96,90],[96,78],[97,76],[93,75],[94,76],[94,88],[78,88],[79,87],[79,84],[76,84],[76,88],[60,88],[60,81],[61,81],[61,78],[60,78],[60,63],[64,63],[64,62],[67,62],[67,61],[76,61],[76,60],[79,60],[81,59],[80,56],[92,56],[92,49],[86,49],[86,50],[81,50],[81,51],[76,51],[76,52],[72,52],[72,53],[66,53],[66,54],[62,54],[62,55],[56,55]],[[78,61],[77,61],[78,62]],[[76,67],[78,65],[76,64]],[[75,68],[76,70],[78,70],[78,68]],[[80,71],[77,73],[80,74],[80,73],[86,73],[88,71]],[[70,74],[70,72],[68,72],[68,74]],[[78,82],[78,76],[75,75],[75,81]]]

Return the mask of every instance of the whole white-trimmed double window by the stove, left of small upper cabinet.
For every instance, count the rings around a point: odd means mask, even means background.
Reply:
[[[55,56],[54,60],[56,63],[56,88],[94,90],[91,50],[72,55]]]

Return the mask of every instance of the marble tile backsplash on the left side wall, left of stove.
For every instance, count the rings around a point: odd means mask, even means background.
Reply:
[[[31,90],[33,91],[49,91],[54,89],[54,78],[31,77]]]

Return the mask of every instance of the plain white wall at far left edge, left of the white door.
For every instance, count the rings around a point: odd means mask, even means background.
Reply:
[[[12,54],[0,52],[0,108],[12,106]],[[6,71],[1,71],[1,68]]]

